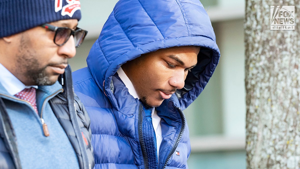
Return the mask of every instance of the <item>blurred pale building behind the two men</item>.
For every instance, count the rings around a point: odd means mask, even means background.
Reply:
[[[118,0],[81,0],[78,27],[88,30],[72,70],[86,67],[88,52]],[[201,0],[211,18],[220,62],[204,91],[186,110],[190,169],[243,169],[245,151],[244,12],[241,0]]]

